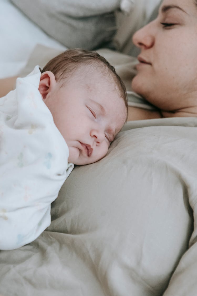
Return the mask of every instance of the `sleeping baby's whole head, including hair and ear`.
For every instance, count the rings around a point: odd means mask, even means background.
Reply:
[[[126,89],[97,52],[70,49],[43,68],[39,91],[69,147],[70,163],[94,163],[127,119]]]

